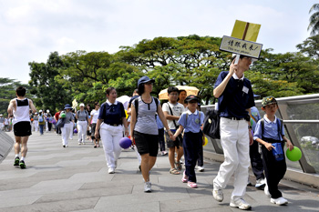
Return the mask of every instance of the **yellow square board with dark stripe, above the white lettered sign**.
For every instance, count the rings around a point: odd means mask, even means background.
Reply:
[[[260,28],[261,25],[236,20],[232,29],[232,37],[256,42]]]

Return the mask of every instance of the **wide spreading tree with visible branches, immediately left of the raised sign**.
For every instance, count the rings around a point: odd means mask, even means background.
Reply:
[[[219,51],[220,37],[189,35],[144,39],[138,45],[121,46],[116,54],[156,80],[154,93],[168,86],[197,86],[209,102],[213,84],[230,65],[229,53]]]

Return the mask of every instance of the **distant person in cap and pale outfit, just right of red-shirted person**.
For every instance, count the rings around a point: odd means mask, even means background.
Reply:
[[[65,125],[63,127],[61,127],[61,133],[62,133],[62,146],[63,147],[67,147],[68,146],[68,137],[70,135],[71,130],[73,130],[73,126],[74,126],[74,116],[72,114],[72,106],[70,106],[69,104],[67,104],[64,107],[65,111],[63,111],[59,118],[62,118],[62,115],[65,114],[66,115],[66,122]]]

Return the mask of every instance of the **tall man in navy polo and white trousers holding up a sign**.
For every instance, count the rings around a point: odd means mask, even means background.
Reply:
[[[251,64],[252,57],[240,56],[237,65],[233,57],[230,70],[221,72],[213,90],[221,113],[221,146],[225,159],[213,180],[212,195],[221,202],[222,189],[234,174],[230,206],[243,210],[251,208],[251,205],[243,200],[250,166],[249,145],[253,142],[249,112],[255,105],[252,84],[243,73],[249,70]]]

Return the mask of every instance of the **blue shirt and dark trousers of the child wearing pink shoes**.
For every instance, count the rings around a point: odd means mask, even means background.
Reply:
[[[201,113],[201,116],[200,116]],[[196,110],[182,113],[179,124],[184,127],[183,150],[185,157],[185,175],[190,182],[196,183],[195,166],[202,146],[201,125],[204,122],[204,114]]]

